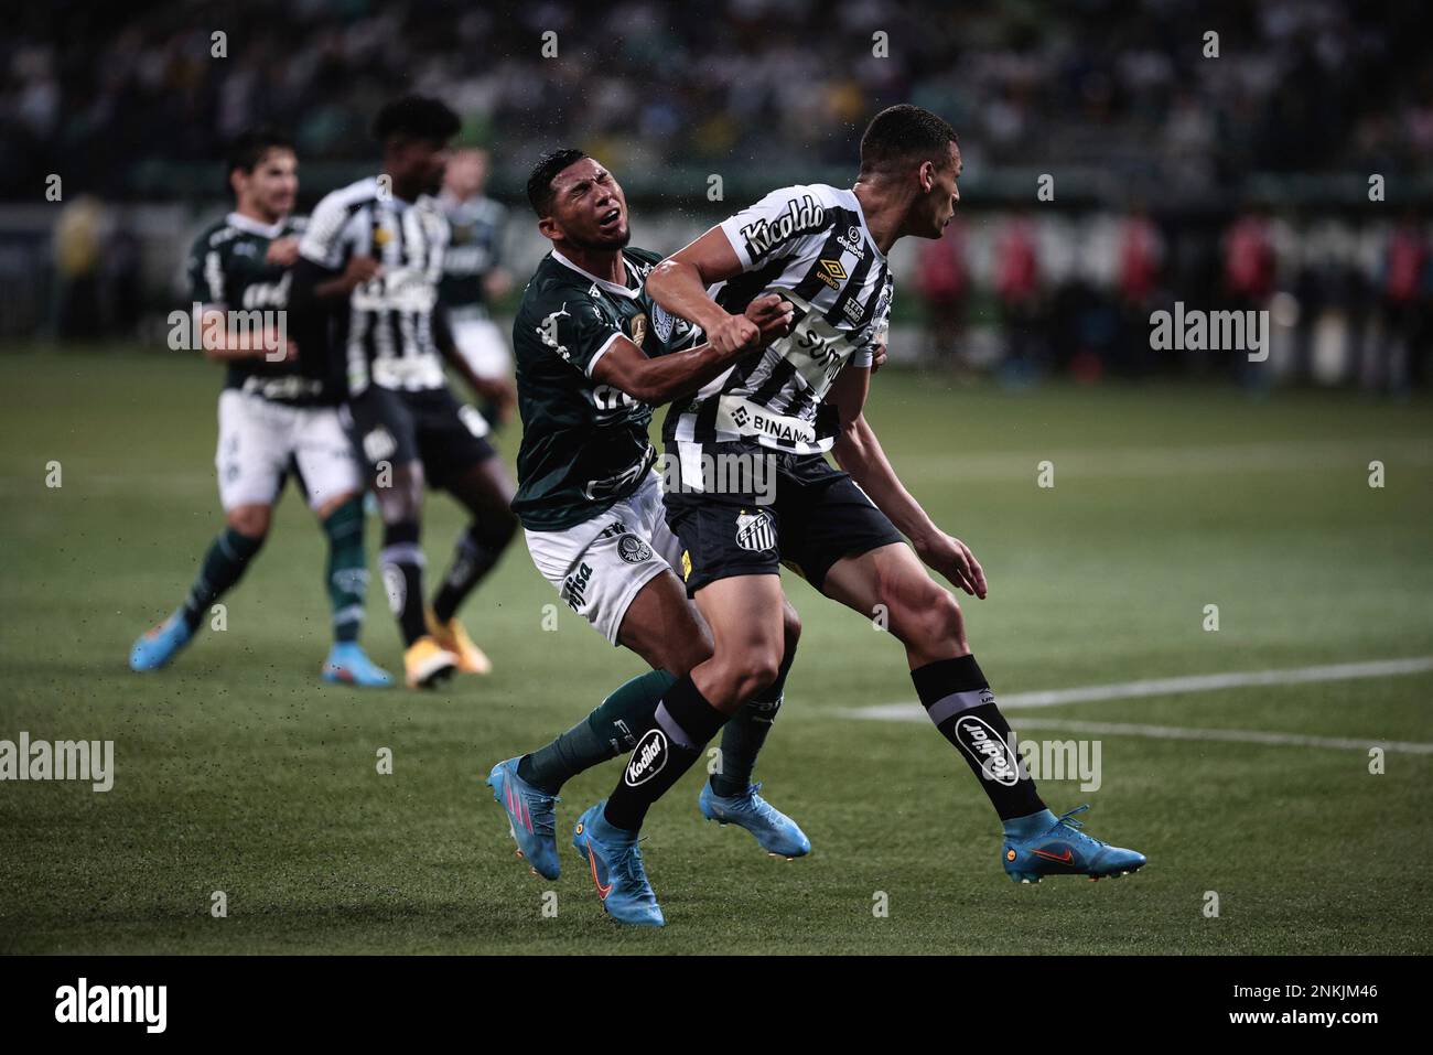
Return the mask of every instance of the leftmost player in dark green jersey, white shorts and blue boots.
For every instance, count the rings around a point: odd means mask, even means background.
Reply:
[[[304,221],[291,215],[298,159],[272,129],[239,135],[229,148],[234,211],[214,224],[189,254],[191,300],[205,355],[226,366],[219,396],[215,456],[225,528],[209,545],[183,605],[130,649],[135,671],[169,664],[189,644],[214,605],[244,575],[268,538],[284,480],[295,472],[328,536],[328,599],[334,645],[325,681],[387,685],[388,674],[358,644],[368,568],[363,545],[363,473],[338,419],[340,393],[322,348],[301,335],[288,348],[255,340],[242,315],[287,311],[292,264]],[[231,325],[232,320],[232,325]],[[271,337],[297,333],[289,327]],[[264,347],[269,344],[269,347]]]

